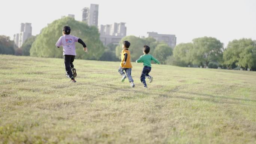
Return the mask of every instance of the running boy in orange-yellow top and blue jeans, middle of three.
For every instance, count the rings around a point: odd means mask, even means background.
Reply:
[[[126,78],[126,76],[125,76],[125,73],[126,73],[128,79],[129,79],[129,83],[131,83],[131,88],[134,88],[135,85],[133,83],[133,79],[131,76],[131,68],[132,68],[131,55],[130,55],[130,51],[128,50],[130,45],[131,45],[131,43],[128,42],[127,40],[123,42],[123,45],[122,45],[123,50],[121,52],[121,64],[118,69],[118,72],[122,76],[122,79],[121,79],[122,82],[124,82],[124,80]],[[124,73],[124,71],[125,71],[125,73]]]

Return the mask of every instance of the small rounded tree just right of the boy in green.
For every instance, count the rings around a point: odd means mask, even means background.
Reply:
[[[173,49],[167,45],[167,43],[160,43],[156,46],[153,55],[158,59],[161,64],[166,63],[168,56],[173,54]]]

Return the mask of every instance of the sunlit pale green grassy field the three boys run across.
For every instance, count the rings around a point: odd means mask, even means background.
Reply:
[[[256,72],[0,55],[0,144],[256,144]]]

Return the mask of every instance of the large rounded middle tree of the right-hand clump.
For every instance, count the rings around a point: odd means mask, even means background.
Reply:
[[[222,62],[223,43],[213,37],[200,37],[193,39],[193,64],[206,65],[209,62]]]

